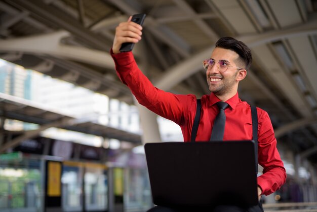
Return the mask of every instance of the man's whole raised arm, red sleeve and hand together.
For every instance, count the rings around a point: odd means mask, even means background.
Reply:
[[[120,23],[115,29],[111,56],[120,80],[126,84],[140,104],[152,112],[181,125],[184,114],[195,107],[194,95],[176,95],[152,85],[138,68],[132,52],[120,52],[126,42],[138,43],[141,40],[142,26],[131,21]]]

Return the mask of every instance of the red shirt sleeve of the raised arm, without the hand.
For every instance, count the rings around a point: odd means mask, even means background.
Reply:
[[[140,104],[157,115],[170,119],[178,125],[182,124],[184,114],[195,107],[194,95],[177,95],[154,87],[138,68],[132,52],[113,54],[111,49],[110,54],[118,77],[130,88]]]

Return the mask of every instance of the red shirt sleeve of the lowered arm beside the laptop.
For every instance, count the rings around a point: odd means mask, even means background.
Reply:
[[[269,195],[281,188],[286,181],[286,170],[276,148],[276,138],[268,114],[258,109],[258,162],[263,174],[258,176],[258,186],[262,194]]]

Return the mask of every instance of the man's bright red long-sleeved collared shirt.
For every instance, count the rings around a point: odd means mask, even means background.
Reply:
[[[111,55],[115,62],[117,75],[135,95],[140,104],[152,112],[177,123],[182,130],[184,141],[189,142],[196,113],[196,96],[177,95],[155,88],[142,74],[131,52]],[[196,141],[208,141],[214,119],[218,114],[215,104],[220,101],[213,93],[201,98],[201,120]],[[252,139],[251,107],[236,93],[226,101],[226,123],[223,140]],[[258,112],[258,163],[264,168],[257,182],[262,194],[269,195],[278,190],[286,180],[286,171],[280,154],[276,149],[276,138],[268,114],[257,108]]]

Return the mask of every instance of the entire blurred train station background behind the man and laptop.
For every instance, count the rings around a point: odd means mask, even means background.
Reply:
[[[137,13],[133,53],[166,91],[209,94],[219,38],[251,48],[239,96],[268,112],[288,176],[265,211],[317,211],[316,0],[1,0],[0,211],[153,206],[143,145],[183,137],[116,76],[115,27]]]

